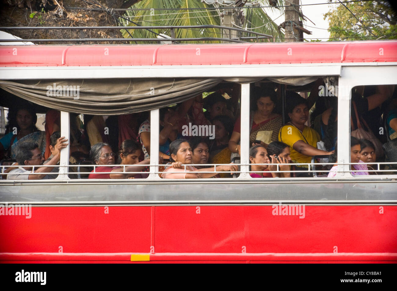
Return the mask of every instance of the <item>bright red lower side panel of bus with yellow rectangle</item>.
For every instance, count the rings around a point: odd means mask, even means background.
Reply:
[[[301,210],[32,207],[30,218],[0,215],[0,260],[397,262],[397,206],[305,205]]]

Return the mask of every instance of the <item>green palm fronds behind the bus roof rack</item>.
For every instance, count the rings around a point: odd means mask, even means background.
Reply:
[[[209,0],[207,0],[209,1]],[[243,4],[245,0],[241,2]],[[251,2],[253,2],[251,0]],[[284,5],[283,0],[278,0],[279,5]],[[254,1],[256,6],[269,6],[268,0],[256,0]],[[238,4],[237,4],[238,5]],[[237,6],[233,3],[231,6]],[[248,6],[249,7],[249,6]],[[192,26],[192,25],[221,25],[220,16],[224,8],[218,2],[207,4],[200,0],[143,0],[133,5],[131,8],[137,10],[129,10],[125,13],[125,17],[130,21],[121,19],[124,25],[128,26]],[[153,9],[154,8],[154,9]],[[202,8],[192,10],[188,8]],[[219,8],[219,9],[214,9]],[[164,10],[159,10],[164,9]],[[270,19],[266,14],[265,9],[269,8],[238,8],[233,10],[235,13],[234,19],[237,19],[237,23],[233,24],[235,28],[241,28],[245,30],[252,30],[264,34],[270,34],[276,41],[280,41],[283,38],[283,33],[279,31],[278,25]],[[283,8],[270,8],[273,11],[282,11]],[[268,10],[269,11],[269,10]],[[280,23],[282,20],[280,19]],[[123,37],[130,38],[156,38],[157,34],[170,35],[170,29],[130,29],[121,30]],[[131,34],[131,36],[129,35]],[[247,33],[239,32],[239,36],[252,36]],[[218,28],[206,28],[206,29],[176,29],[175,38],[200,38],[200,37],[216,37],[222,38],[221,30]],[[255,40],[252,40],[255,41]],[[260,41],[272,41],[272,39],[262,39]],[[204,41],[196,41],[204,42]],[[207,43],[219,43],[219,40],[205,41]],[[144,42],[138,42],[144,43]],[[181,43],[191,43],[189,41],[182,41]]]

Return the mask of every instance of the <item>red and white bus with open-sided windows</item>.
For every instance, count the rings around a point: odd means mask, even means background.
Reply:
[[[395,85],[396,73],[393,40],[1,46],[4,100],[60,110],[66,137],[70,113],[150,110],[154,154],[146,179],[71,178],[62,150],[56,179],[0,180],[0,260],[396,262],[397,175],[378,163],[378,175],[354,176],[349,163],[352,89]],[[339,88],[336,176],[251,178],[250,84],[304,92],[318,78]],[[56,84],[79,94],[52,94]],[[222,84],[241,84],[238,177],[162,179],[159,108]]]

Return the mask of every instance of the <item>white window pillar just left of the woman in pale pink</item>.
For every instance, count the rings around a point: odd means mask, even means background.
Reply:
[[[150,175],[148,179],[158,178],[158,151],[160,134],[160,110],[150,110]]]

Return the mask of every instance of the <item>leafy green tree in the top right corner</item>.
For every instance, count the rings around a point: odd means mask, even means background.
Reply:
[[[324,14],[324,19],[328,17],[330,41],[397,38],[397,15],[387,1],[362,1],[345,5],[360,21],[342,4],[333,5],[333,9]]]

